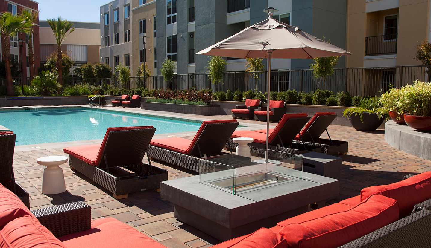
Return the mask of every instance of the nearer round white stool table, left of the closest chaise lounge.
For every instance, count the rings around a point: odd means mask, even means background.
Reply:
[[[46,166],[42,176],[42,194],[52,195],[66,191],[63,170],[59,165],[66,163],[67,159],[65,156],[48,156],[36,159],[37,164]]]

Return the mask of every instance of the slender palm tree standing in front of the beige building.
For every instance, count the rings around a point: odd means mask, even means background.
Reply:
[[[72,33],[75,28],[73,27],[73,23],[66,20],[61,19],[61,17],[58,17],[58,19],[47,19],[48,24],[50,25],[51,29],[53,30],[55,39],[57,41],[57,70],[58,70],[58,82],[63,87],[63,78],[62,78],[62,71],[63,71],[63,64],[62,64],[62,51],[61,51],[61,44],[66,39],[66,37]]]

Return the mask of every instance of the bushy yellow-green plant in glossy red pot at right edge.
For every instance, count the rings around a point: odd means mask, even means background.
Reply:
[[[415,81],[401,88],[400,112],[409,127],[431,131],[431,83]]]

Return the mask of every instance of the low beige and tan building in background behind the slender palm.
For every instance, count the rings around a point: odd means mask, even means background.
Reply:
[[[39,21],[39,25],[40,60],[44,64],[50,54],[57,51],[57,42],[47,21]],[[73,22],[73,26],[75,31],[66,37],[61,49],[75,61],[74,68],[85,63],[100,62],[100,23]]]

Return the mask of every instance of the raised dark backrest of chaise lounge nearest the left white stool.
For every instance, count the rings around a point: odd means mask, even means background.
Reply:
[[[115,167],[141,163],[154,132],[153,126],[109,127],[97,154],[96,165]]]

